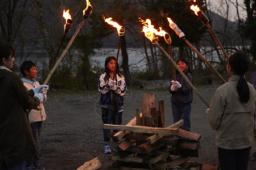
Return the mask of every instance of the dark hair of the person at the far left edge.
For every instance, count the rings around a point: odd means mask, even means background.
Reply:
[[[0,42],[0,65],[3,64],[3,58],[10,59],[10,55],[14,57],[15,48],[7,42]]]

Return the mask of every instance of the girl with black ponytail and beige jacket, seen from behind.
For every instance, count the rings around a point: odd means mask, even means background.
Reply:
[[[220,168],[247,169],[254,128],[256,92],[244,75],[249,57],[236,52],[229,57],[229,81],[217,88],[210,101],[208,120],[216,130]]]

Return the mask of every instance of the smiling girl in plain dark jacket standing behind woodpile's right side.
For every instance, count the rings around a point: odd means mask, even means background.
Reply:
[[[176,63],[185,76],[187,76],[188,80],[193,84],[194,80],[191,69],[188,66],[187,59],[178,59]],[[184,125],[181,128],[190,131],[190,113],[191,103],[193,100],[193,90],[185,81],[183,76],[181,76],[178,71],[176,71],[176,73],[176,81],[174,81],[174,78],[172,78],[169,87],[169,92],[172,94],[172,116],[174,118],[174,124],[183,119]]]

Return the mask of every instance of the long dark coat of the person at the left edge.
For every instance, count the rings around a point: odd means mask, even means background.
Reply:
[[[0,69],[0,94],[0,167],[3,163],[12,167],[38,155],[27,109],[36,109],[40,101],[6,69]]]

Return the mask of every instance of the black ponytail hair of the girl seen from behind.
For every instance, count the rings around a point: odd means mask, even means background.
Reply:
[[[241,76],[237,83],[237,92],[239,95],[239,100],[242,103],[247,103],[250,100],[249,86],[244,78],[244,75],[249,68],[249,63],[250,58],[242,52],[233,53],[229,57],[229,65],[233,69],[234,74]]]

